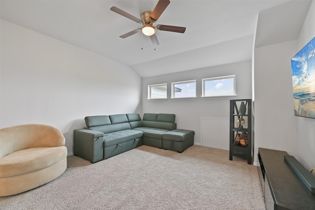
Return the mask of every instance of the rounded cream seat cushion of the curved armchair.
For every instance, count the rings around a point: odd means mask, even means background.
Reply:
[[[13,177],[47,168],[63,160],[65,146],[37,147],[12,152],[0,158],[0,178]]]

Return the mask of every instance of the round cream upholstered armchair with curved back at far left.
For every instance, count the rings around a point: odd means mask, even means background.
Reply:
[[[25,192],[56,179],[67,167],[60,130],[25,124],[0,129],[0,196]]]

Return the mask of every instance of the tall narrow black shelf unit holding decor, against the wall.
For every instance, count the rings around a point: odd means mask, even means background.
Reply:
[[[253,163],[252,147],[252,99],[230,100],[230,152],[233,156],[247,159]]]

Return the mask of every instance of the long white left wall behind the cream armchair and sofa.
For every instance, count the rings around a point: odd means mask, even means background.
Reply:
[[[7,21],[0,26],[0,128],[50,124],[71,154],[84,117],[141,112],[141,78],[131,67]]]

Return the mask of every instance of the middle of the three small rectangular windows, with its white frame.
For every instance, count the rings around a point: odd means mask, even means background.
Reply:
[[[196,97],[196,80],[172,83],[172,98]]]

